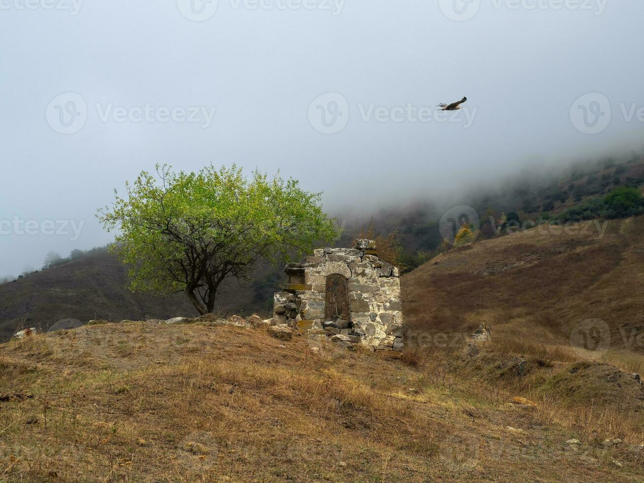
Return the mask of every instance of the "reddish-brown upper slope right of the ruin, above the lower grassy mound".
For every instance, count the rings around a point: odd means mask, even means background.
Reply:
[[[579,323],[601,319],[611,351],[642,354],[644,219],[611,220],[598,235],[603,223],[531,229],[440,254],[402,279],[407,323],[451,334],[485,322],[497,339],[565,348]]]

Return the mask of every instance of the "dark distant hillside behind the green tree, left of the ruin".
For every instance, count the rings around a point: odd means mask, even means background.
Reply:
[[[238,312],[265,312],[267,294],[272,300],[272,278],[247,289],[233,284],[218,294],[218,308]],[[127,269],[108,253],[97,253],[79,260],[30,274],[0,285],[0,341],[18,328],[48,327],[67,317],[86,323],[91,319],[109,321],[169,319],[194,316],[193,305],[182,295],[160,298],[135,294],[127,288]],[[264,287],[266,285],[266,287]],[[24,319],[24,320],[23,320]]]

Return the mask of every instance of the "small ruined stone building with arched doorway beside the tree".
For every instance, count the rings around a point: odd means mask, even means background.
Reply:
[[[289,283],[274,296],[272,325],[292,327],[308,337],[330,337],[345,346],[402,351],[400,273],[378,258],[375,242],[317,249],[305,261],[287,265],[285,272]]]

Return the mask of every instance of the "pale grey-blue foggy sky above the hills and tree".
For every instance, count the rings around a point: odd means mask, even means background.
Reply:
[[[367,213],[641,139],[641,1],[220,0],[192,21],[194,1],[0,0],[0,275],[110,242],[96,209],[155,163],[280,169]],[[573,122],[587,93],[601,132]],[[461,122],[435,117],[463,96]]]

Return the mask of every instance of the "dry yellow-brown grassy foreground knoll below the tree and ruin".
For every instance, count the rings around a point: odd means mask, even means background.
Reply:
[[[0,348],[2,480],[642,480],[641,433],[327,343],[126,323]]]

